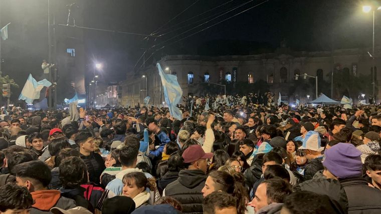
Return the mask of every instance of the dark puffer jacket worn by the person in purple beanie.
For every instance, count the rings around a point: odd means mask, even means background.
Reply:
[[[340,180],[348,198],[349,214],[381,213],[381,191],[368,186],[361,177]]]

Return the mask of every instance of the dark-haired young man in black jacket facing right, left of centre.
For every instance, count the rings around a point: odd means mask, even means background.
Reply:
[[[89,172],[89,180],[96,184],[100,184],[100,175],[106,168],[103,158],[100,154],[94,152],[94,140],[90,132],[80,132],[75,143],[79,146],[81,158],[85,161],[87,171]]]

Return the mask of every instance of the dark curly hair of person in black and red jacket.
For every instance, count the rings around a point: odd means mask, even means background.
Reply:
[[[62,186],[74,189],[87,182],[87,169],[80,157],[67,157],[59,165]]]

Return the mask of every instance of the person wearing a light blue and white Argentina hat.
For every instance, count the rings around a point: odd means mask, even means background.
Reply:
[[[319,170],[324,169],[321,161],[324,155],[321,151],[324,149],[321,147],[320,136],[315,131],[308,131],[303,139],[303,144],[298,149],[304,151],[308,163],[304,168],[304,176],[301,178],[301,182],[305,180],[310,180]]]

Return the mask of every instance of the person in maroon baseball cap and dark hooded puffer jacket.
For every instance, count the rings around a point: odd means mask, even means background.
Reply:
[[[182,153],[187,169],[178,173],[177,180],[169,183],[165,196],[171,196],[182,204],[183,213],[203,213],[203,193],[207,176],[208,159],[213,153],[205,153],[200,145],[192,145]]]

